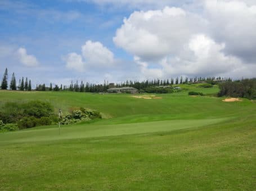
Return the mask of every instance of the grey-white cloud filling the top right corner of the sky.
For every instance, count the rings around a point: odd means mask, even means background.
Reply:
[[[252,2],[252,1],[251,1]],[[256,60],[256,1],[205,1],[209,34],[224,42],[224,51],[251,62]]]

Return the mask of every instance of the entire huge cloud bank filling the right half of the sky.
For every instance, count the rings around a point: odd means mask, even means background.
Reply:
[[[207,0],[201,8],[134,11],[113,41],[134,56],[146,78],[255,75],[256,3]]]

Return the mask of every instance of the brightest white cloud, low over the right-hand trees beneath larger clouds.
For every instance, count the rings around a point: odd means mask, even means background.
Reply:
[[[204,34],[197,34],[183,49],[185,56],[180,54],[174,58],[165,57],[160,65],[166,75],[224,74],[241,67],[239,58],[226,56],[222,52],[224,47],[224,44],[218,44]]]

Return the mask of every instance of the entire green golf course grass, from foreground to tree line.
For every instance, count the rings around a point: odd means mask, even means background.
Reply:
[[[187,91],[162,99],[0,91],[1,104],[42,99],[107,118],[60,135],[57,126],[0,133],[0,190],[254,190],[256,104]]]

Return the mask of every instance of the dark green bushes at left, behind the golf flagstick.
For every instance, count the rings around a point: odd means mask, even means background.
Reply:
[[[61,124],[74,124],[79,121],[101,119],[100,112],[80,108],[68,115],[61,115]],[[0,131],[14,131],[35,126],[53,125],[59,122],[54,108],[49,102],[29,101],[26,103],[6,102],[1,107]]]

